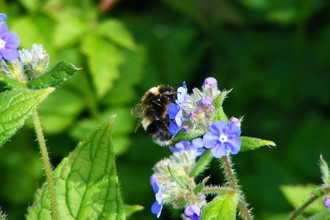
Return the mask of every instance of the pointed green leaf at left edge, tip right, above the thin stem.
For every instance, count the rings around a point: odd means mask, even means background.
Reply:
[[[0,146],[21,128],[32,110],[54,88],[44,90],[11,90],[0,94]]]

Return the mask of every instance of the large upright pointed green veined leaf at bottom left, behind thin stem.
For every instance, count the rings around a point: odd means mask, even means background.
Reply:
[[[91,131],[53,171],[61,219],[125,219],[111,141],[114,118]],[[27,219],[52,219],[47,187],[37,191]]]

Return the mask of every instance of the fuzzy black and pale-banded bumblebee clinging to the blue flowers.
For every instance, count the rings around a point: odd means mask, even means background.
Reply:
[[[167,108],[175,103],[174,89],[170,86],[157,86],[149,89],[131,110],[131,114],[140,118],[135,131],[140,124],[150,138],[161,146],[171,144],[173,135],[168,130],[171,119],[168,117]]]

